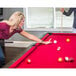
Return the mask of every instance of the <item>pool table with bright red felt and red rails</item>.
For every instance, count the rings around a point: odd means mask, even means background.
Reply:
[[[49,39],[52,43],[36,43],[9,68],[76,68],[76,34],[47,33],[42,37],[44,41]],[[65,57],[72,57],[74,60],[65,61]],[[62,61],[59,61],[59,58],[62,58]]]

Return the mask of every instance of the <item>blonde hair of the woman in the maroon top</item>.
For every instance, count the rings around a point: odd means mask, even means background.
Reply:
[[[9,22],[10,22],[10,26],[17,26],[19,25],[19,23],[21,22],[21,20],[24,18],[24,15],[22,12],[17,11],[14,12],[11,17],[9,18]]]

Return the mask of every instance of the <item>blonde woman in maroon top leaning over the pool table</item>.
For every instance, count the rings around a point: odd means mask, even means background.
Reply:
[[[49,44],[49,41],[42,41],[36,36],[25,32],[21,27],[24,25],[24,15],[22,12],[15,12],[11,15],[9,20],[3,20],[0,22],[0,40],[9,39],[13,34],[19,33],[20,35],[34,40],[38,43]],[[5,56],[2,48],[0,48],[0,66],[5,64]]]

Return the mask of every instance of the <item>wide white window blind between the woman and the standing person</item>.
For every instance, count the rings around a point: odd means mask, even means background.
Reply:
[[[27,18],[28,17],[28,18]],[[49,28],[53,27],[53,8],[29,7],[27,8],[27,28]],[[26,26],[25,26],[26,27]]]

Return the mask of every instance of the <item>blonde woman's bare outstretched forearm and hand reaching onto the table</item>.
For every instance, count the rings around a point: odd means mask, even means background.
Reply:
[[[20,34],[24,37],[27,37],[28,39],[30,40],[33,40],[33,41],[36,41],[37,43],[43,43],[43,44],[49,44],[51,43],[50,40],[49,41],[42,41],[41,39],[39,39],[38,37],[32,35],[32,34],[29,34],[27,32],[25,32],[24,30],[22,32],[20,32]]]

